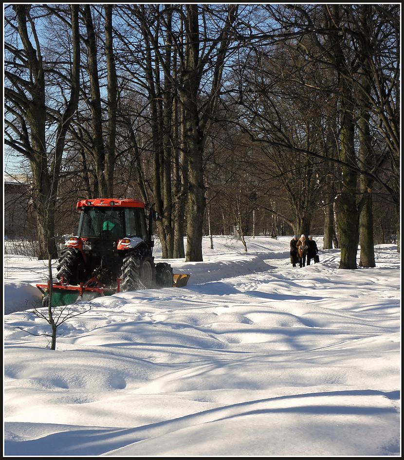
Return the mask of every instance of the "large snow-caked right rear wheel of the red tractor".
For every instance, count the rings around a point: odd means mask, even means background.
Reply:
[[[122,263],[121,291],[150,289],[154,284],[154,262],[146,249],[130,251]]]

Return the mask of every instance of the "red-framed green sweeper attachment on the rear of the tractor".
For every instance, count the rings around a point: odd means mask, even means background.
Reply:
[[[42,292],[43,299],[42,303],[45,306],[45,301],[48,298],[49,285],[48,284],[37,284],[37,288]],[[63,305],[70,305],[78,300],[89,301],[96,297],[104,295],[115,294],[115,289],[106,289],[101,287],[88,287],[83,286],[81,283],[79,286],[72,286],[70,284],[55,283],[52,285],[52,307],[61,307]]]

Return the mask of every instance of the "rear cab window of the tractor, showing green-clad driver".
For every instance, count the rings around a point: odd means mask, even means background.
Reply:
[[[80,237],[123,238],[122,210],[117,208],[91,207],[80,216]]]

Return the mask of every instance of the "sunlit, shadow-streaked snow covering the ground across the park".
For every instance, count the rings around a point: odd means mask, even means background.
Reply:
[[[21,311],[46,264],[5,256],[6,455],[400,455],[396,246],[339,270],[336,249],[299,269],[288,241],[214,242],[172,261],[187,287],[95,299],[56,351]]]

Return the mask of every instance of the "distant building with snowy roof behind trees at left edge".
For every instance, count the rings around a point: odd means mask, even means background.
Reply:
[[[4,173],[4,239],[32,239],[31,181],[27,174]]]

